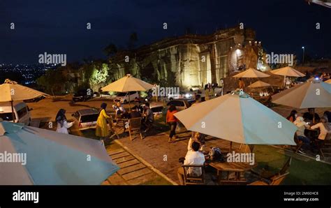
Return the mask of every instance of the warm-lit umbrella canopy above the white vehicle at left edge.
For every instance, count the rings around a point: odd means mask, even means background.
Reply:
[[[25,87],[10,80],[6,80],[5,83],[0,85],[0,91],[0,102],[23,101],[38,98],[39,96],[49,96],[41,91]]]

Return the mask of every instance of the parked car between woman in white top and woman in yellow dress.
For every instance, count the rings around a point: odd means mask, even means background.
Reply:
[[[96,120],[98,120],[98,110],[87,108],[76,111],[72,116],[77,121],[78,129],[85,130],[96,128]]]

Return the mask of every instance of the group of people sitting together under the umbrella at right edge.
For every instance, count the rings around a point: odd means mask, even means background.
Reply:
[[[328,139],[328,136],[331,134],[331,125],[329,123],[331,112],[325,111],[323,117],[319,117],[314,108],[309,108],[308,112],[304,112],[302,116],[296,110],[292,110],[287,119],[297,126],[296,138],[298,141],[303,142],[303,149],[313,150],[314,145],[311,144],[313,144],[314,141],[321,142]],[[318,138],[316,138],[317,140],[311,135],[308,135],[306,129],[318,129],[319,134]],[[301,154],[305,154],[303,149],[299,149]]]

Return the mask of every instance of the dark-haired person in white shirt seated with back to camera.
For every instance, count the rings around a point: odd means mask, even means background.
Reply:
[[[189,151],[187,151],[184,165],[203,165],[205,163],[205,156],[202,154],[200,149],[200,144],[198,142],[192,142],[188,146]],[[179,184],[184,185],[184,168],[179,167],[177,171],[177,176],[179,179]]]

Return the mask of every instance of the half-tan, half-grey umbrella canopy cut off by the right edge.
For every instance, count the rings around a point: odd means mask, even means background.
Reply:
[[[331,85],[317,80],[298,84],[272,96],[272,103],[297,108],[331,107]]]

